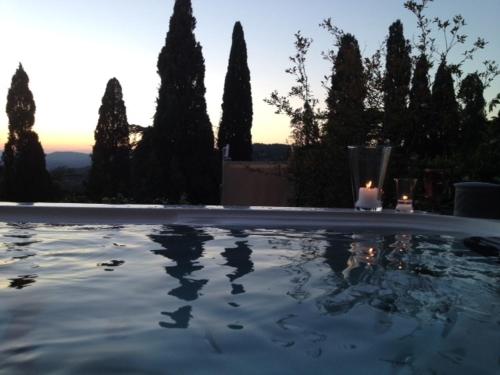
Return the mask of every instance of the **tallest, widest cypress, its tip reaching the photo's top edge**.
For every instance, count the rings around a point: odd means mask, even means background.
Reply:
[[[205,61],[194,36],[190,0],[176,0],[165,46],[158,57],[161,78],[153,122],[154,184],[177,203],[217,199],[214,135],[205,101]]]

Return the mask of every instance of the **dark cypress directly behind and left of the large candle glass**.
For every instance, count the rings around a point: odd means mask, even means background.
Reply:
[[[327,98],[324,176],[325,205],[352,207],[347,146],[367,141],[365,121],[366,75],[358,41],[341,36]]]

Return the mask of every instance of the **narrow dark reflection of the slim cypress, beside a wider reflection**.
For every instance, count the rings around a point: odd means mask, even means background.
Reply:
[[[231,236],[235,238],[246,238],[248,237],[241,230],[231,230]],[[226,248],[221,255],[226,259],[225,266],[235,268],[233,273],[227,274],[231,282],[231,294],[242,294],[245,293],[245,288],[242,284],[234,283],[235,280],[253,272],[253,262],[251,260],[252,250],[248,246],[248,241],[236,241],[236,247]]]

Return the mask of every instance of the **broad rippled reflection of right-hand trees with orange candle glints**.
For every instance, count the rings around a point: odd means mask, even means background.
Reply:
[[[354,234],[350,243],[335,236],[328,242],[323,256],[335,281],[318,299],[321,311],[343,314],[367,304],[382,313],[438,321],[443,336],[450,333],[457,320],[454,306],[460,291],[451,287],[448,278],[454,267],[459,273],[462,269],[460,258],[450,250],[453,239],[436,237],[431,242],[428,237],[404,233]],[[388,329],[392,315],[381,317],[379,328]]]

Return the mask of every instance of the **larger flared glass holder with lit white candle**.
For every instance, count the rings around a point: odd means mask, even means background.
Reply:
[[[352,194],[358,211],[382,211],[390,146],[349,146]]]

